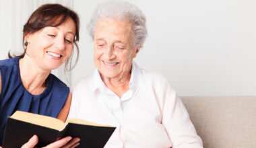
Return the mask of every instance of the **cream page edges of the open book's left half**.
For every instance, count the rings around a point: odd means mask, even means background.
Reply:
[[[40,114],[33,114],[30,112],[22,112],[19,110],[16,111],[13,115],[11,115],[10,118],[21,120],[24,122],[29,122],[32,124],[37,124],[40,126],[45,126],[48,128],[53,128],[58,131],[61,131],[61,129],[63,129],[65,126],[65,123],[61,120],[58,120],[57,118],[53,118],[51,116],[43,116]]]

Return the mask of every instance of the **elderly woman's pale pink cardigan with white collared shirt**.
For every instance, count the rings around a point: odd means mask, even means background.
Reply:
[[[120,99],[95,71],[73,89],[68,118],[117,126],[106,148],[203,147],[168,79],[133,63],[129,87]]]

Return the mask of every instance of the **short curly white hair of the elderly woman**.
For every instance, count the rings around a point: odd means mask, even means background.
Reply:
[[[94,39],[97,22],[106,18],[125,20],[131,23],[135,47],[143,46],[146,36],[148,36],[148,31],[146,28],[146,17],[139,8],[127,1],[121,0],[108,1],[98,5],[87,26],[92,39]]]

